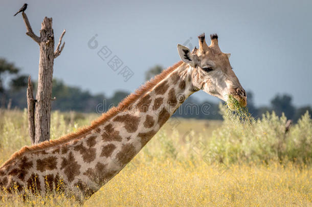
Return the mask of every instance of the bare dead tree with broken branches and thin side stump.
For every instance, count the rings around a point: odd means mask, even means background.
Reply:
[[[57,48],[54,51],[52,18],[44,17],[41,24],[40,37],[38,37],[32,31],[27,15],[24,12],[22,14],[27,29],[26,34],[30,36],[35,42],[37,42],[40,48],[36,100],[33,102],[31,101],[31,99],[33,99],[31,91],[32,87],[30,87],[31,83],[28,84],[29,94],[27,95],[29,135],[32,140],[32,144],[38,144],[40,142],[50,140],[53,64],[54,58],[59,56],[64,48],[65,43],[62,44],[61,48],[60,45],[65,34],[65,30],[62,32]],[[35,105],[33,108],[32,105],[34,103]],[[32,123],[34,123],[34,128]]]

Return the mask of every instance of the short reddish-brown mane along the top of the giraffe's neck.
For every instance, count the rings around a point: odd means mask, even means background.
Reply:
[[[8,159],[0,168],[3,168],[11,163],[14,162],[15,159],[23,156],[26,153],[36,152],[39,150],[49,149],[52,147],[56,147],[68,142],[71,142],[73,140],[78,140],[79,137],[87,134],[88,132],[91,132],[93,129],[96,129],[99,125],[103,124],[104,122],[108,121],[109,119],[113,118],[118,112],[126,110],[131,103],[134,103],[139,98],[141,98],[146,92],[151,90],[155,85],[157,85],[161,80],[163,80],[165,77],[167,77],[171,72],[173,72],[177,67],[181,66],[183,61],[179,61],[172,65],[171,67],[168,67],[166,70],[164,70],[161,74],[151,78],[149,81],[145,82],[145,84],[141,85],[136,91],[130,95],[128,95],[126,98],[124,98],[117,107],[110,108],[107,112],[103,113],[101,117],[94,120],[90,126],[82,127],[78,129],[76,132],[72,132],[66,135],[63,135],[59,137],[57,140],[50,140],[45,141],[40,144],[34,145],[34,146],[24,146],[19,151],[12,154],[11,158]]]

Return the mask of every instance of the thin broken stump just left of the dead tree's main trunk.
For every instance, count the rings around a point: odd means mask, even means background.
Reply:
[[[30,76],[27,87],[27,111],[28,111],[28,132],[31,144],[35,143],[35,99],[33,96],[33,86]]]

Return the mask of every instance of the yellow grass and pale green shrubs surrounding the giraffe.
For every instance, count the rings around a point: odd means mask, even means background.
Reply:
[[[289,130],[282,114],[253,119],[220,106],[224,121],[172,117],[116,177],[85,206],[311,206],[312,120],[305,113]],[[26,111],[0,111],[0,163],[29,145]],[[97,114],[52,113],[57,139]],[[2,193],[2,206],[79,205],[52,192]],[[54,195],[54,196],[52,196]]]

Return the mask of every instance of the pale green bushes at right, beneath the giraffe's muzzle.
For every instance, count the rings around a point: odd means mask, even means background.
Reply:
[[[308,112],[286,131],[286,117],[266,112],[255,120],[248,110],[235,112],[220,106],[224,122],[213,132],[207,145],[211,162],[295,162],[311,164],[312,120]]]

